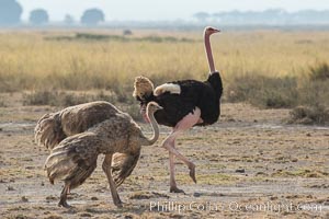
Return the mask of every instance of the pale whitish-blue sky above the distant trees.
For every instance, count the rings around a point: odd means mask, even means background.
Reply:
[[[195,12],[215,13],[231,10],[260,11],[269,8],[285,9],[290,12],[329,9],[328,0],[16,0],[23,7],[23,20],[30,11],[43,8],[52,21],[63,21],[65,14],[80,20],[86,9],[99,8],[105,20],[146,21],[191,19]]]

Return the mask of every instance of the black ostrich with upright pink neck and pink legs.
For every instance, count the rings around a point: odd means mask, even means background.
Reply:
[[[196,183],[195,165],[175,149],[175,138],[193,126],[207,126],[218,120],[223,84],[219,72],[215,70],[211,41],[212,34],[219,32],[214,27],[204,30],[205,51],[209,66],[206,81],[182,80],[168,82],[154,89],[152,82],[137,77],[133,95],[140,102],[140,112],[147,120],[145,107],[150,101],[157,102],[163,110],[156,112],[158,124],[172,127],[172,132],[163,140],[162,147],[169,151],[170,193],[184,193],[177,187],[174,180],[174,157],[190,169],[190,176]]]

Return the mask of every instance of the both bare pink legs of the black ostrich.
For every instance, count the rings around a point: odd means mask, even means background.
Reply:
[[[180,120],[177,126],[173,128],[173,131],[164,139],[162,142],[162,147],[166,148],[169,151],[169,163],[170,163],[170,186],[172,186],[173,192],[175,186],[174,181],[174,160],[173,155],[178,157],[181,161],[183,161],[190,169],[190,176],[196,183],[195,180],[195,165],[189,159],[186,159],[184,155],[182,155],[178,150],[174,148],[174,140],[184,130],[188,130],[189,128],[193,127],[198,120],[200,120],[201,111],[200,108],[195,108],[193,114],[190,113],[186,115],[182,120]],[[177,188],[177,191],[180,191]]]

